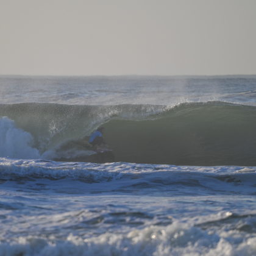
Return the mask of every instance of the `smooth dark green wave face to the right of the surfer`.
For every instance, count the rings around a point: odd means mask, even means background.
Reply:
[[[117,162],[256,165],[254,107],[183,105],[158,119],[112,120],[104,127]]]

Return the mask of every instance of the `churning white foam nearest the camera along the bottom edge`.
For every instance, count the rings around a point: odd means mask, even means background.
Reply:
[[[0,256],[240,256],[256,254],[256,237],[230,230],[208,232],[181,222],[166,227],[149,226],[129,233],[106,232],[99,236],[81,237],[70,233],[66,240],[54,235],[20,236],[0,244]]]

